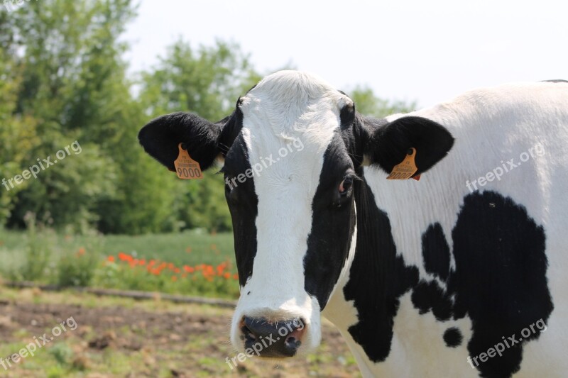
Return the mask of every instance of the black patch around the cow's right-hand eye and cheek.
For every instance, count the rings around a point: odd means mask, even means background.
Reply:
[[[316,296],[320,309],[327,304],[349,255],[355,228],[354,201],[352,191],[340,196],[338,189],[346,174],[354,173],[343,140],[336,134],[324,153],[312,203],[312,232],[304,257],[304,287],[307,293]]]

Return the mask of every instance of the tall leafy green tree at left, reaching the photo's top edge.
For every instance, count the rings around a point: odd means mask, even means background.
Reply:
[[[124,129],[121,101],[129,96],[118,42],[133,16],[130,0],[29,2],[4,18],[0,38],[12,59],[9,82],[16,100],[2,114],[35,120],[36,143],[6,151],[21,171],[77,140],[81,155],[45,169],[11,201],[10,224],[23,226],[27,211],[50,213],[55,226],[80,227],[97,219],[99,201],[114,196],[117,167],[107,155]],[[4,133],[8,123],[2,123]]]

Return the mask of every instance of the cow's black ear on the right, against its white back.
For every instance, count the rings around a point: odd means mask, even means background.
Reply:
[[[390,173],[410,148],[416,149],[416,174],[427,171],[447,155],[454,137],[444,126],[427,118],[398,118],[373,130],[364,152],[366,161]]]

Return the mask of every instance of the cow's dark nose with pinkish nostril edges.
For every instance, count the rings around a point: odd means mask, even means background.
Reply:
[[[266,318],[243,316],[241,340],[245,351],[261,357],[292,357],[302,345],[305,321],[295,318],[289,321],[270,322]]]

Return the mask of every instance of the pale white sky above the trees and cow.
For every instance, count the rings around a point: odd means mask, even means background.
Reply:
[[[263,74],[293,65],[349,94],[447,101],[505,82],[568,79],[568,2],[138,0],[126,28],[131,72],[182,37],[238,43]]]

